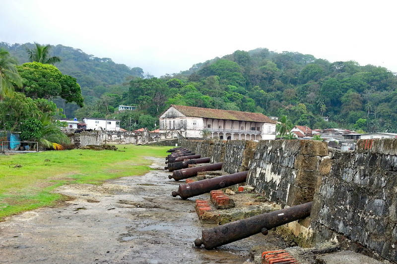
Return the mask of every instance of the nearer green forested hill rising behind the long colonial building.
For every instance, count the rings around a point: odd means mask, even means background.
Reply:
[[[154,124],[176,104],[287,115],[312,128],[397,132],[397,77],[388,69],[267,49],[236,51],[159,79],[134,79],[122,100],[139,106],[132,118],[148,115],[139,125]]]

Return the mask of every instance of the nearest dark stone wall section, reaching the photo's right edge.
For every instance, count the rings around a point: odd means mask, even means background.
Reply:
[[[312,227],[317,242],[397,262],[397,139],[360,140],[323,166]]]

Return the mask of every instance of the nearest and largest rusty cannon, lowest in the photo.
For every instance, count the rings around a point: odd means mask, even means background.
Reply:
[[[219,225],[201,232],[201,239],[195,240],[195,245],[204,245],[206,249],[261,233],[266,235],[271,228],[305,218],[310,215],[313,202],[293,206],[277,211],[266,212],[249,218]]]

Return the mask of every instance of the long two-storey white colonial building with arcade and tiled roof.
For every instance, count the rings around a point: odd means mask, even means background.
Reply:
[[[276,122],[262,113],[171,105],[160,115],[160,130],[187,138],[274,139]]]

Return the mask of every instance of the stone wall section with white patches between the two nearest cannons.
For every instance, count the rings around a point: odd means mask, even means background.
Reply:
[[[294,206],[313,200],[326,143],[313,140],[261,140],[247,183],[268,201]]]

